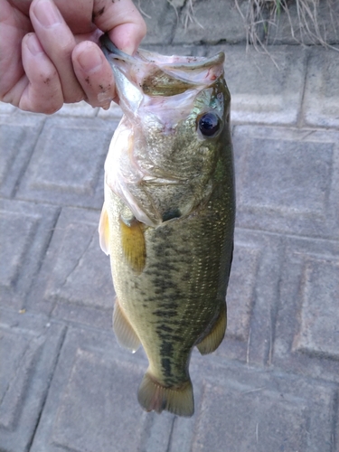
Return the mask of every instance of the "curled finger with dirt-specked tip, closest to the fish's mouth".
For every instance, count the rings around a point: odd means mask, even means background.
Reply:
[[[73,52],[75,74],[92,107],[109,108],[116,96],[112,70],[94,42],[80,42]]]

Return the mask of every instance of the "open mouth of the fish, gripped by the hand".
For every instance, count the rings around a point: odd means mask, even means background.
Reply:
[[[100,37],[100,44],[113,71],[118,68],[150,97],[169,97],[188,89],[208,87],[223,75],[223,52],[212,57],[185,57],[139,49],[131,56],[120,51],[107,34]]]

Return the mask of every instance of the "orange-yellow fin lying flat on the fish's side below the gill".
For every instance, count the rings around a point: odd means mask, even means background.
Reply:
[[[120,219],[122,249],[128,264],[137,273],[141,273],[146,264],[146,243],[143,226],[133,219],[128,226]]]

